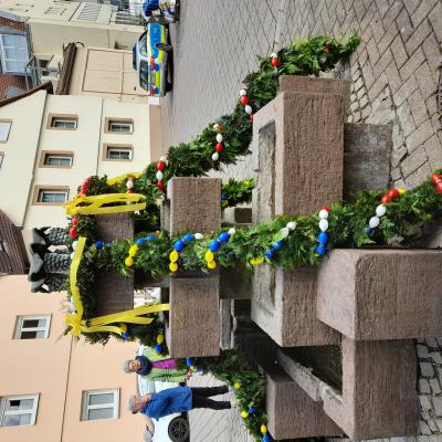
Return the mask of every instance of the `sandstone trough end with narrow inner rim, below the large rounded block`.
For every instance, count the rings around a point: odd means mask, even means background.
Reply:
[[[355,341],[343,337],[341,380],[333,385],[327,373],[332,361],[318,358],[317,348],[311,350],[311,357],[306,349],[278,350],[276,358],[287,376],[347,435],[359,440],[417,434],[412,340]]]

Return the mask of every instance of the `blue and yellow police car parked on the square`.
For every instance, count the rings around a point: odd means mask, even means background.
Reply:
[[[171,90],[168,83],[168,59],[172,46],[168,30],[159,23],[148,23],[133,48],[133,67],[138,73],[139,85],[150,96],[165,96]]]

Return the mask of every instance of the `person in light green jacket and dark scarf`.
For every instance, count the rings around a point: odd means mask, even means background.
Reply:
[[[150,347],[145,347],[143,355],[135,359],[125,360],[124,370],[159,382],[185,382],[192,376],[190,370],[178,369],[176,359],[171,359],[168,355],[158,355]]]

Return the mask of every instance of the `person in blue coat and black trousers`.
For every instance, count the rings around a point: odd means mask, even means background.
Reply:
[[[175,387],[161,390],[158,393],[131,396],[127,408],[134,414],[141,412],[149,418],[160,419],[168,414],[190,411],[196,408],[211,410],[227,410],[232,408],[229,401],[214,401],[212,396],[224,394],[227,386],[211,388]]]

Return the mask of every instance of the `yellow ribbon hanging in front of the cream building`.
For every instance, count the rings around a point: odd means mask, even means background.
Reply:
[[[93,197],[77,194],[73,200],[66,201],[63,207],[66,210],[66,214],[70,215],[122,213],[145,209],[146,202],[141,202],[145,200],[146,197],[140,193],[105,193]],[[102,207],[103,204],[126,202],[131,202],[131,204]],[[85,203],[88,206],[80,206]]]

